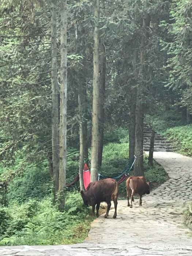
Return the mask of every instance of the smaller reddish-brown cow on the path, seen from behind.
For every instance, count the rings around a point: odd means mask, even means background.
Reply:
[[[127,190],[127,206],[132,208],[132,201],[134,202],[133,196],[135,193],[139,194],[139,205],[142,205],[142,195],[150,193],[150,182],[146,182],[143,176],[135,177],[131,176],[126,180],[126,190]],[[129,204],[129,197],[131,197],[131,205]]]

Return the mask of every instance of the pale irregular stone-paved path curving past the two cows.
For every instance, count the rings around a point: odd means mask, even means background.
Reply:
[[[170,179],[150,195],[133,202],[119,200],[117,219],[97,218],[83,244],[59,246],[4,246],[0,255],[17,256],[192,256],[192,231],[183,224],[182,212],[192,201],[192,158],[177,153],[154,152]],[[113,204],[113,203],[112,203]]]

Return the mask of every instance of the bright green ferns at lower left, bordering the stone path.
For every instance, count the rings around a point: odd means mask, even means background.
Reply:
[[[15,202],[0,211],[0,245],[45,245],[81,242],[92,218],[79,192],[68,192],[66,208],[59,212],[50,197],[25,204]]]

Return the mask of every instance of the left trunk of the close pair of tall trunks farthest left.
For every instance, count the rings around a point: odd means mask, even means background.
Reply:
[[[51,26],[51,48],[52,48],[52,173],[54,182],[54,199],[59,190],[59,102],[57,83],[57,25],[56,25],[56,4],[52,2],[52,26]],[[49,157],[50,158],[50,157]],[[51,162],[49,162],[51,165]],[[49,166],[51,168],[51,166]]]

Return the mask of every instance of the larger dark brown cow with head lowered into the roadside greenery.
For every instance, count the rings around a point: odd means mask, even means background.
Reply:
[[[92,213],[95,216],[95,205],[97,204],[96,216],[99,216],[99,206],[101,202],[107,203],[107,211],[104,218],[109,215],[109,210],[111,207],[111,198],[113,198],[115,212],[113,218],[117,216],[117,196],[118,196],[118,184],[117,181],[112,178],[107,178],[104,180],[94,181],[89,184],[87,191],[81,191],[81,196],[85,205],[92,206]]]

